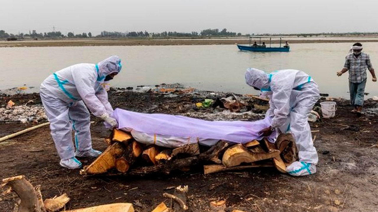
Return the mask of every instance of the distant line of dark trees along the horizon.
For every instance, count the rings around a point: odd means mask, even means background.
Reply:
[[[227,29],[204,29],[201,32],[108,32],[102,31],[99,35],[94,37],[133,37],[133,38],[167,38],[167,37],[234,37],[234,36],[297,36],[297,37],[312,37],[312,36],[327,36],[327,37],[337,37],[337,36],[366,36],[366,35],[378,35],[378,32],[347,32],[347,33],[334,33],[334,32],[323,32],[323,33],[300,33],[300,34],[245,34],[242,35],[240,32],[228,32]],[[19,33],[17,35],[8,34],[4,30],[0,29],[0,38],[24,38],[31,37],[34,39],[38,38],[91,38],[93,37],[91,32],[82,32],[79,34],[74,34],[74,32],[68,32],[67,35],[62,34],[60,31],[37,33],[36,30],[29,31],[29,34]]]

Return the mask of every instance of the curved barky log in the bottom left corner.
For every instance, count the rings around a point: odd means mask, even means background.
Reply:
[[[46,212],[43,205],[42,195],[39,187],[34,187],[25,179],[25,176],[19,175],[3,179],[3,186],[7,185],[16,192],[20,197],[20,203],[16,205],[17,212]]]

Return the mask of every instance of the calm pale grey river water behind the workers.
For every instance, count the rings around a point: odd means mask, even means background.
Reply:
[[[321,93],[348,98],[348,73],[344,66],[352,43],[291,44],[290,52],[242,52],[236,45],[193,46],[84,46],[0,48],[0,90],[35,86],[51,73],[75,63],[97,63],[110,55],[122,59],[123,68],[112,81],[115,87],[181,83],[207,91],[256,94],[245,84],[248,67],[266,72],[299,69],[319,84]],[[373,67],[378,64],[378,43],[364,43]],[[377,83],[368,82],[368,97],[378,95]],[[33,91],[33,89],[29,89]]]

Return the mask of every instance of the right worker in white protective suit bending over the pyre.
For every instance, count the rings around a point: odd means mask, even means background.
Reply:
[[[245,73],[249,86],[270,97],[270,108],[266,117],[272,117],[269,128],[262,131],[268,136],[279,129],[291,132],[296,141],[299,161],[286,168],[288,174],[304,176],[316,172],[318,153],[313,145],[308,114],[319,99],[318,84],[305,72],[286,69],[270,74],[249,68]]]

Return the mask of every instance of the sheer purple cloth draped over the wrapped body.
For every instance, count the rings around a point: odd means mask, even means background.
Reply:
[[[247,143],[260,140],[259,132],[270,126],[271,118],[258,121],[206,121],[197,118],[168,114],[144,114],[115,109],[113,117],[118,129],[128,128],[147,134],[172,135],[177,137],[198,137]],[[268,139],[276,138],[274,132]]]

